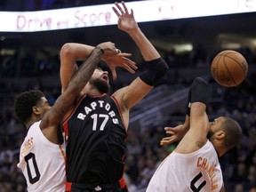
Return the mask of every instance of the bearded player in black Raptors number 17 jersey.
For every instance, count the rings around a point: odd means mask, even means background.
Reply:
[[[148,70],[132,84],[108,96],[108,72],[97,68],[80,93],[73,111],[62,124],[68,137],[67,190],[72,192],[127,191],[123,173],[130,108],[168,71],[165,61],[140,31],[133,12],[128,12],[124,2],[123,8],[117,3],[115,5],[113,10],[118,17],[118,28],[127,32],[139,46],[148,63]],[[62,47],[60,80],[63,91],[67,89],[72,76],[70,72],[76,71],[75,61],[84,59],[82,56],[86,58],[86,52],[90,53],[91,49],[81,44],[66,44]],[[108,63],[108,68],[115,68],[116,65]]]

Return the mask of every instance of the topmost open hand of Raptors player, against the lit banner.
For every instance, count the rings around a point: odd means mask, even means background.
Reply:
[[[118,17],[118,28],[127,33],[138,29],[138,23],[134,19],[133,10],[131,9],[131,13],[129,13],[124,1],[121,4],[123,8],[117,2],[115,3],[116,7],[112,7]]]

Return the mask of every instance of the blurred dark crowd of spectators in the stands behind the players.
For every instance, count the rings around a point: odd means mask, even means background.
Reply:
[[[250,74],[243,84],[236,88],[223,88],[215,84],[214,94],[221,95],[221,100],[212,100],[208,105],[208,113],[214,116],[232,116],[243,127],[243,139],[237,148],[220,158],[223,176],[227,191],[229,192],[255,192],[256,191],[256,61],[253,54],[244,53],[250,68]],[[182,84],[188,86],[193,78],[193,69],[209,68],[212,58],[204,52],[177,55],[175,52],[166,52],[165,59],[170,65],[173,76],[162,84]],[[22,66],[22,68],[19,68]],[[17,168],[19,150],[26,130],[13,114],[13,101],[17,93],[28,89],[42,90],[50,103],[54,103],[60,95],[59,86],[45,86],[30,82],[29,84],[7,84],[9,77],[28,78],[33,76],[59,76],[60,60],[54,55],[45,60],[35,62],[35,58],[26,55],[17,58],[17,55],[0,58],[0,192],[25,192],[26,182],[22,173]],[[252,67],[252,68],[251,68]],[[180,68],[189,68],[190,77],[180,73]],[[171,72],[170,72],[171,73]],[[8,82],[8,80],[7,80]],[[214,81],[211,81],[214,84]],[[125,84],[112,84],[114,92]],[[127,84],[127,82],[126,82]],[[159,85],[160,86],[160,85]],[[213,94],[213,93],[212,93]],[[215,97],[212,95],[212,97]],[[143,191],[148,186],[148,181],[156,171],[163,159],[172,153],[177,143],[162,147],[159,141],[165,137],[164,126],[174,126],[180,123],[185,114],[176,112],[169,116],[180,116],[179,120],[164,120],[162,124],[148,126],[145,132],[135,129],[128,131],[127,155],[124,177],[129,185],[130,192]],[[211,120],[211,119],[210,119]],[[44,152],[46,153],[46,152]],[[172,181],[170,181],[172,184]],[[180,181],[182,185],[182,181]],[[254,190],[253,190],[254,188]]]

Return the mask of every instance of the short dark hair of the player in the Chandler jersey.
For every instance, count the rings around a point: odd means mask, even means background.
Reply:
[[[224,132],[226,132],[225,146],[226,148],[234,148],[240,141],[242,136],[242,129],[240,124],[233,118],[224,116],[224,121],[221,125]]]

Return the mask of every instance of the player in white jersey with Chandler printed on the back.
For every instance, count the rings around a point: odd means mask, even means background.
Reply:
[[[208,87],[196,77],[188,93],[188,115],[184,124],[165,128],[171,137],[161,145],[180,140],[177,148],[159,165],[147,192],[224,191],[219,157],[239,142],[242,130],[230,117],[209,122],[206,114]]]

